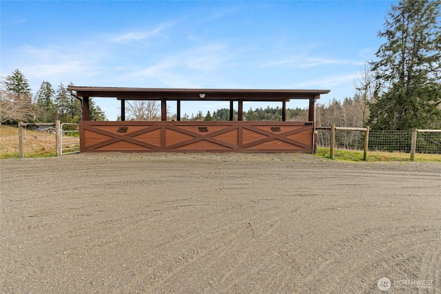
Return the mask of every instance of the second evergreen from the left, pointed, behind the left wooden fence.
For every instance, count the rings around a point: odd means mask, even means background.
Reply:
[[[40,89],[35,96],[35,103],[37,104],[37,119],[43,122],[50,122],[55,120],[54,97],[55,91],[48,81],[41,83]]]

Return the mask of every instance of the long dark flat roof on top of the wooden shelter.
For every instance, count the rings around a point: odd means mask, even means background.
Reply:
[[[109,97],[120,100],[181,101],[289,101],[318,99],[330,90],[263,90],[263,89],[176,89],[139,87],[68,87],[80,97]]]

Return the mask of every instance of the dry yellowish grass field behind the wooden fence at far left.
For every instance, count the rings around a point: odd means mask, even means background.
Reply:
[[[19,156],[19,129],[0,125],[0,158]],[[24,149],[26,157],[54,156],[55,134],[25,129]]]

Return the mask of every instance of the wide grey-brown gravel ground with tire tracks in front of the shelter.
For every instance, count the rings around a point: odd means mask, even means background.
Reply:
[[[441,293],[441,165],[0,160],[1,293]],[[384,281],[384,280],[383,280]]]

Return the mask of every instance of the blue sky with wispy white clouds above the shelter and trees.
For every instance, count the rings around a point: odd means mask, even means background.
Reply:
[[[328,89],[354,81],[397,1],[4,1],[1,77],[108,87]],[[116,99],[94,99],[109,120]],[[268,103],[245,103],[265,107]],[[291,101],[288,107],[306,107]],[[189,115],[228,103],[183,103]],[[174,108],[170,109],[174,112]]]

